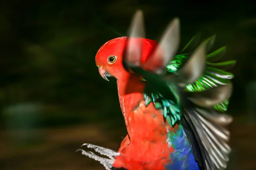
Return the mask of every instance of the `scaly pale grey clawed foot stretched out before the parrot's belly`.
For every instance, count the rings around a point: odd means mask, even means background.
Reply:
[[[92,158],[96,161],[99,161],[104,167],[106,170],[111,170],[111,168],[113,167],[113,163],[115,161],[115,156],[119,156],[120,153],[116,153],[114,152],[113,150],[111,149],[107,149],[105,147],[100,147],[100,146],[97,146],[97,145],[94,145],[94,144],[82,144],[82,146],[87,146],[88,148],[91,148],[91,149],[94,149],[96,152],[100,153],[101,155],[105,155],[105,156],[108,156],[110,159],[107,159],[107,158],[102,158],[100,156],[97,156],[95,153],[93,152],[88,152],[88,151],[85,151],[85,150],[82,150],[82,149],[78,149],[76,150],[77,151],[81,151],[81,153],[85,156],[88,156],[89,158]]]

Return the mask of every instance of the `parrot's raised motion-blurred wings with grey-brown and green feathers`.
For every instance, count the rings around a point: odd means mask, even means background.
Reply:
[[[159,44],[146,59],[142,58],[143,13],[137,11],[132,20],[124,51],[123,65],[146,82],[145,101],[163,109],[170,125],[180,122],[189,139],[198,164],[206,170],[225,169],[230,147],[230,133],[225,128],[232,117],[227,110],[232,93],[230,79],[224,71],[235,61],[212,63],[220,59],[225,47],[210,54],[215,36],[198,45],[198,35],[175,55],[180,42],[180,22],[175,18],[167,27]],[[187,52],[187,50],[192,52]]]

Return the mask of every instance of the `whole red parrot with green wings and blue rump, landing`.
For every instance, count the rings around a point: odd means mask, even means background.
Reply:
[[[106,170],[224,170],[231,147],[227,111],[236,61],[216,62],[226,46],[210,52],[215,35],[196,34],[180,46],[175,17],[159,41],[145,38],[142,10],[131,20],[128,35],[109,40],[95,60],[101,77],[116,78],[128,134],[118,151],[82,144],[78,149]],[[82,147],[81,146],[81,147]]]

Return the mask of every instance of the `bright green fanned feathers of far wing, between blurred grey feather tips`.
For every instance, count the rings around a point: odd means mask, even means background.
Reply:
[[[198,36],[192,38],[189,43],[183,48],[182,51],[186,51],[189,47],[194,47],[197,44]],[[210,37],[207,45],[207,51],[209,51],[213,45],[215,36]],[[213,51],[210,54],[207,54],[207,65],[204,71],[204,74],[192,84],[186,86],[187,91],[205,91],[207,89],[217,87],[219,85],[227,85],[230,83],[230,79],[233,79],[234,75],[226,72],[225,70],[232,68],[236,61],[227,61],[227,62],[217,62],[212,63],[223,57],[226,52],[226,47],[221,47],[216,51]],[[177,69],[183,64],[183,62],[189,57],[189,53],[187,54],[179,54],[175,56],[175,59],[169,62],[166,66],[167,70],[170,73],[175,73]],[[229,104],[229,99],[224,102],[215,105],[213,108],[217,111],[227,111],[227,106]]]

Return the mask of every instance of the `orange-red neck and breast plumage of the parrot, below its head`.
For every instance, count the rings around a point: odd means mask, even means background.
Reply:
[[[129,135],[121,143],[121,154],[116,157],[113,167],[135,170],[164,169],[164,165],[170,161],[170,153],[174,151],[172,147],[168,148],[166,127],[168,130],[174,129],[165,122],[162,111],[155,109],[152,103],[145,106],[145,84],[139,77],[130,74],[122,81],[117,80],[117,85]]]

